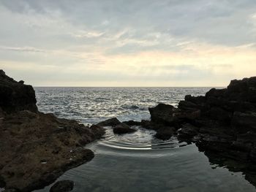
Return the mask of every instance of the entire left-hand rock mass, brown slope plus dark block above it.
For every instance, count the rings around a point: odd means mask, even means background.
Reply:
[[[34,90],[0,71],[0,187],[33,191],[94,158],[84,145],[105,133],[101,126],[37,111]]]

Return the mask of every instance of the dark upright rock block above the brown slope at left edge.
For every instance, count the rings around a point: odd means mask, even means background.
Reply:
[[[23,85],[0,70],[0,107],[5,112],[37,112],[37,100],[31,85]]]

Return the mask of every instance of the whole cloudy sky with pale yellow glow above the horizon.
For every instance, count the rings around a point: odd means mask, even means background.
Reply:
[[[255,0],[0,0],[0,69],[34,86],[256,76]]]

